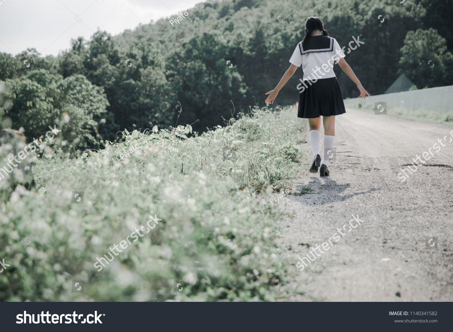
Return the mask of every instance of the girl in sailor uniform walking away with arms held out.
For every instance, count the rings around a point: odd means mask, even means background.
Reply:
[[[297,117],[308,118],[310,125],[308,136],[314,155],[310,173],[317,173],[318,167],[321,166],[320,176],[329,175],[327,165],[335,138],[335,115],[346,113],[340,85],[338,85],[337,77],[333,72],[333,64],[338,63],[346,75],[357,84],[361,98],[365,99],[366,95],[369,96],[351,67],[344,60],[344,52],[335,38],[328,37],[328,35],[328,32],[324,30],[321,19],[309,17],[305,22],[304,39],[297,45],[289,60],[291,66],[275,89],[266,93],[266,95],[269,95],[266,104],[273,104],[281,88],[294,75],[296,69],[302,65],[304,79],[299,79],[302,83],[297,86],[297,89],[300,90]],[[324,125],[322,165],[319,155],[321,115]]]

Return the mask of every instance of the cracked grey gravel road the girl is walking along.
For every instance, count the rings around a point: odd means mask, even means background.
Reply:
[[[294,264],[280,301],[452,301],[452,129],[347,109],[336,119],[329,178],[308,172],[312,152],[302,144],[310,157],[293,190],[313,191],[280,199],[280,241]],[[438,138],[445,146],[431,156]],[[401,182],[400,167],[423,152],[430,159]],[[352,214],[363,220],[356,228]],[[299,272],[298,257],[335,232],[340,240]]]

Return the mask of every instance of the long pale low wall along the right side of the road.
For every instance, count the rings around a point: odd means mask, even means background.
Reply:
[[[453,85],[439,86],[422,90],[372,95],[365,100],[351,98],[343,100],[345,106],[368,105],[376,102],[387,102],[387,107],[404,107],[407,109],[426,109],[434,111],[453,110]]]

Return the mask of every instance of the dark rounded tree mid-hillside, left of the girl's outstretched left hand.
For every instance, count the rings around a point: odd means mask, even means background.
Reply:
[[[173,54],[169,68],[174,76],[170,81],[173,89],[178,91],[178,101],[183,107],[179,123],[191,124],[199,120],[193,128],[202,131],[223,124],[222,118],[231,118],[233,105],[230,100],[236,104],[236,111],[241,103],[244,104],[246,85],[236,66],[226,65],[226,55],[228,47],[214,33],[192,38],[183,54]],[[174,122],[177,114],[175,112]]]

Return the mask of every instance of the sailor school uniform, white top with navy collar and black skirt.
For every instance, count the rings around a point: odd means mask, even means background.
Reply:
[[[346,113],[334,63],[345,57],[335,38],[311,36],[305,46],[300,42],[289,62],[304,71],[299,90],[298,118],[318,118]]]

